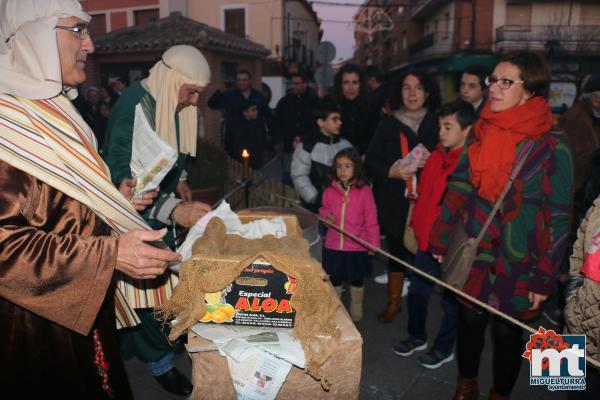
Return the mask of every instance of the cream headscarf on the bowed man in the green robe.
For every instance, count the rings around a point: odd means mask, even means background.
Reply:
[[[206,87],[210,83],[210,67],[200,50],[187,45],[173,46],[150,70],[150,94],[156,99],[156,133],[177,149],[175,109],[179,89],[184,84]],[[196,156],[198,109],[194,106],[179,112],[179,151]]]

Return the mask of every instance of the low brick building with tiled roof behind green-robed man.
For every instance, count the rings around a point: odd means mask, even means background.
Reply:
[[[88,83],[106,84],[111,76],[128,76],[139,79],[161,54],[176,44],[195,46],[202,51],[211,68],[211,84],[206,89],[209,96],[221,84],[222,71],[244,68],[253,75],[254,84],[260,82],[262,60],[268,50],[257,43],[225,33],[203,23],[172,13],[166,18],[109,32],[94,39],[96,51]],[[217,139],[220,132],[221,113],[207,108],[202,101],[207,137]]]

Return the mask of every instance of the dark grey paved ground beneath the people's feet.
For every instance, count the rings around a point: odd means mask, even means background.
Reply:
[[[374,267],[376,274],[384,270],[384,264],[379,259],[376,259]],[[392,350],[394,344],[406,334],[406,313],[399,315],[390,324],[378,323],[376,315],[385,304],[386,287],[369,280],[365,290],[365,319],[358,324],[364,339],[360,398],[364,400],[451,399],[456,387],[456,361],[431,371],[416,363],[419,353],[410,357],[395,355]],[[342,299],[347,302],[346,294]],[[442,317],[439,293],[434,293],[429,309],[429,332],[437,332]],[[546,320],[538,322],[546,328],[551,327]],[[490,343],[490,339],[488,336],[487,344]],[[491,347],[486,346],[481,360],[480,399],[487,399],[491,387],[491,362]],[[185,374],[191,375],[191,362],[185,351],[177,353],[176,364]],[[127,361],[126,368],[136,399],[179,399],[162,390],[154,378],[146,373],[141,362]],[[566,398],[564,394],[551,393],[545,388],[531,387],[528,379],[529,367],[526,362],[523,362],[513,399]]]

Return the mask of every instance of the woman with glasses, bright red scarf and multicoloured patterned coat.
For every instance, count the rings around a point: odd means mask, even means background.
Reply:
[[[448,178],[429,250],[441,261],[456,223],[463,223],[469,236],[477,236],[513,168],[524,160],[479,243],[463,290],[528,321],[538,316],[540,305],[552,293],[565,253],[572,203],[571,151],[565,135],[552,130],[545,99],[550,68],[542,57],[534,53],[506,57],[486,84],[489,101],[474,125],[467,151]],[[479,394],[479,361],[490,319],[494,342],[490,399],[508,399],[517,380],[525,349],[521,328],[465,301],[458,326],[455,399],[475,399]]]

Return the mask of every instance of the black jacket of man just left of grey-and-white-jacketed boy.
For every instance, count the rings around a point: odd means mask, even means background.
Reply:
[[[306,137],[314,128],[313,108],[318,97],[312,90],[295,95],[288,93],[275,108],[274,136],[283,143],[286,152],[292,152],[295,136]]]

